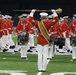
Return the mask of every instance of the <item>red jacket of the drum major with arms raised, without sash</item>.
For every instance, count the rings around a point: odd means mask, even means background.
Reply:
[[[43,23],[44,23],[44,26],[46,27],[47,31],[49,31],[49,28],[51,26],[53,26],[57,21],[58,21],[58,17],[55,17],[54,21],[44,20]],[[48,44],[48,41],[43,37],[43,35],[40,32],[40,29],[38,27],[38,21],[32,20],[32,23],[33,23],[33,25],[35,25],[38,28],[38,41],[37,41],[37,43],[41,44],[41,45]]]

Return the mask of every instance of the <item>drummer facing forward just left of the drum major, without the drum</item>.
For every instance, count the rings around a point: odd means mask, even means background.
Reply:
[[[32,24],[27,20],[27,14],[22,15],[22,20],[19,20],[16,27],[16,32],[18,36],[22,33],[31,34],[32,33]],[[21,58],[27,58],[28,43],[26,45],[21,45]]]

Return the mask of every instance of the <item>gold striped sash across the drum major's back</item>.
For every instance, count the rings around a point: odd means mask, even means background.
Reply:
[[[42,21],[38,21],[38,26],[40,29],[41,34],[43,35],[43,37],[47,40],[47,42],[49,43],[49,35],[48,35],[48,31],[46,30],[44,24]]]

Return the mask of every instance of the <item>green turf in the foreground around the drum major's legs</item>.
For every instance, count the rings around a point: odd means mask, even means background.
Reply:
[[[69,55],[56,55],[48,64],[46,72],[42,75],[50,75],[56,72],[76,72],[76,61],[70,61]],[[19,53],[0,53],[0,70],[26,71],[27,75],[37,75],[37,54],[28,54],[28,60],[21,59]],[[10,75],[3,74],[0,75]],[[75,74],[66,74],[75,75]]]

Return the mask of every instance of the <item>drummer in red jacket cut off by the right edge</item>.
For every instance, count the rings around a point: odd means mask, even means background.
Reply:
[[[72,59],[75,60],[76,59],[76,44],[74,42],[76,42],[75,38],[76,38],[76,14],[73,15],[73,20],[71,21],[70,25],[70,35],[71,35],[71,41],[72,41]],[[74,37],[74,38],[73,38]],[[74,44],[74,46],[73,46]]]

